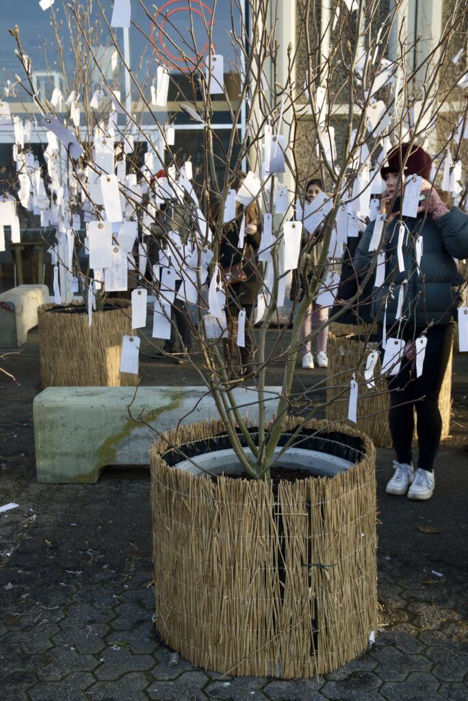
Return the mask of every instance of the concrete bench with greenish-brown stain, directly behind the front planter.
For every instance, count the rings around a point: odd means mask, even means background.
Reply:
[[[266,389],[267,418],[280,390]],[[255,421],[256,389],[233,393],[242,416]],[[181,423],[219,418],[204,387],[140,387],[136,395],[134,387],[48,387],[35,397],[33,415],[37,481],[55,484],[97,482],[106,465],[149,465],[158,437],[151,427],[163,433],[182,417]]]

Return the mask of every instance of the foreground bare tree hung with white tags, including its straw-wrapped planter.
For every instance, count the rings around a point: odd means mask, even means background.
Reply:
[[[443,146],[437,149],[433,118],[439,128],[439,114],[464,89],[460,75],[453,80],[446,75],[464,6],[455,3],[439,40],[414,63],[414,46],[400,26],[401,2],[388,13],[376,0],[330,5],[328,13],[324,8],[320,13],[319,4],[298,4],[294,44],[283,35],[280,4],[248,2],[249,21],[238,24],[233,3],[233,91],[223,56],[214,50],[216,4],[211,13],[200,10],[206,39],[200,45],[193,23],[181,33],[170,14],[155,17],[141,2],[147,23],[133,26],[142,46],[157,50],[158,62],[151,53],[149,64],[156,85],[148,91],[129,72],[132,104],[116,95],[112,102],[124,115],[125,128],[148,144],[149,155],[136,168],[135,182],[123,166],[117,174],[106,170],[94,149],[87,155],[88,180],[81,180],[95,212],[102,205],[93,195],[103,199],[107,222],[116,210],[123,218],[110,237],[95,232],[95,250],[104,249],[108,257],[116,247],[119,261],[122,250],[127,258],[126,217],[135,207],[141,212],[139,250],[142,258],[149,256],[150,266],[141,266],[139,275],[142,288],[156,299],[152,337],[170,340],[175,329],[179,339],[174,313],[179,299],[198,347],[193,355],[183,346],[181,358],[198,370],[219,411],[220,421],[212,426],[179,427],[161,437],[152,452],[152,490],[158,627],[169,644],[222,672],[285,677],[326,672],[362,651],[376,629],[373,447],[355,430],[317,422],[324,402],[313,394],[311,400],[305,393],[308,401],[298,416],[303,394],[295,393],[293,379],[301,327],[314,299],[332,306],[348,237],[371,217],[380,233],[366,268],[359,278],[354,268],[348,273],[357,280],[355,292],[324,324],[339,322],[347,308],[359,311],[359,305],[369,304],[364,290],[374,277],[382,290],[392,283],[385,269],[381,275],[390,217],[377,216],[375,201],[383,190],[380,165],[392,147],[427,140],[436,172],[443,170],[444,189],[450,189],[453,177],[448,149],[455,131],[438,133]],[[124,61],[112,25],[132,20],[119,14],[120,7],[114,5],[113,18],[101,9],[111,46]],[[77,3],[71,13],[78,20]],[[95,58],[103,91],[111,90],[79,22],[77,29]],[[199,46],[209,50],[203,53]],[[19,39],[18,51],[26,67]],[[182,84],[175,74],[180,64],[186,71]],[[172,83],[180,109],[202,125],[203,165],[195,174],[172,149],[170,114],[160,119]],[[235,125],[242,110],[248,112],[245,132],[234,128],[227,147],[216,132],[219,100]],[[456,113],[454,107],[451,111]],[[105,138],[116,140],[121,130],[114,125]],[[405,165],[402,158],[401,170]],[[93,173],[102,178],[100,191],[91,186]],[[326,182],[326,193],[308,203],[303,183],[317,176]],[[396,199],[397,190],[390,211]],[[418,205],[418,193],[415,200]],[[93,229],[88,227],[90,254]],[[119,266],[116,259],[109,264],[115,271]],[[291,271],[302,280],[303,295],[296,294],[284,320]],[[247,299],[249,281],[259,285],[256,304],[242,304],[240,292]],[[390,299],[394,287],[386,294]],[[136,296],[133,301],[136,317]],[[280,316],[273,347],[267,346],[267,332]],[[401,317],[400,327],[406,323]],[[319,330],[310,334],[312,343]],[[248,355],[239,350],[246,345]],[[364,374],[369,351],[364,343],[363,357],[347,369],[354,374],[351,383],[333,397],[347,398],[343,418],[355,420],[357,393],[365,395],[369,384],[384,392],[385,374],[401,360],[390,354],[382,362],[383,374],[371,363]],[[267,384],[268,369],[277,362],[284,365],[279,392]],[[340,376],[335,379],[340,385]],[[241,401],[239,387],[248,388]],[[275,418],[266,421],[268,402],[274,400]],[[258,416],[253,428],[244,416],[251,404]],[[193,472],[216,471],[200,454],[226,449],[254,481],[195,479]],[[319,454],[336,458],[318,470],[321,478],[276,484],[278,466],[292,460],[310,473]],[[235,469],[232,458],[216,455],[219,471]],[[330,463],[338,473],[333,478]]]

